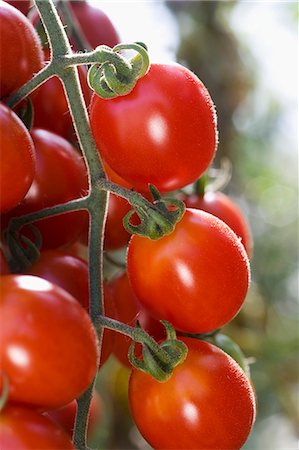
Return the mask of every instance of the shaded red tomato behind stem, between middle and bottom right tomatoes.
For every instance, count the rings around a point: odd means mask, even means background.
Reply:
[[[157,341],[165,337],[165,329],[157,320],[153,319],[141,308],[130,286],[127,273],[115,277],[107,286],[111,300],[115,305],[115,318],[128,325],[135,326],[138,319],[140,325]],[[132,340],[123,334],[115,333],[113,353],[116,358],[131,369],[128,351]],[[136,346],[136,356],[141,354],[141,346]]]

